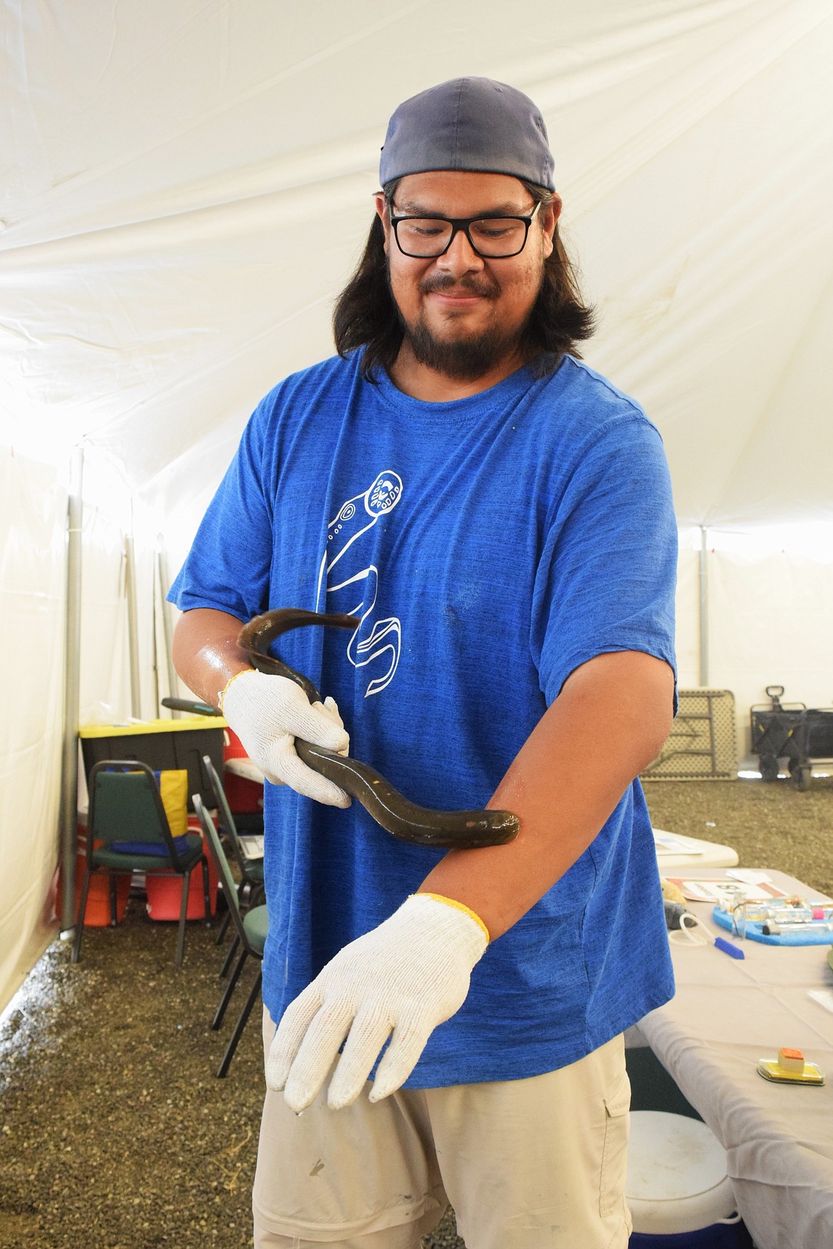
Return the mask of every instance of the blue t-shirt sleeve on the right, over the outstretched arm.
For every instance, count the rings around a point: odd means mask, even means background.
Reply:
[[[547,704],[579,664],[642,651],[674,671],[677,525],[662,440],[618,417],[577,457],[538,565],[531,651]]]

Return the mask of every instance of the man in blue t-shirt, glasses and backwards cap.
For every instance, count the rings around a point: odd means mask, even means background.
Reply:
[[[340,356],[256,410],[171,591],[179,672],[287,786],[259,1247],[406,1249],[447,1200],[470,1249],[627,1244],[621,1034],[673,992],[634,778],[673,714],[676,528],[656,430],[577,360],[552,170],[503,84],[396,110]],[[323,704],[239,649],[275,607],[360,617],[281,638]],[[397,842],[296,736],[520,833]]]

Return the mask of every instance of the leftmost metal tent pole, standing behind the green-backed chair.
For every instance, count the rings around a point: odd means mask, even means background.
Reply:
[[[79,707],[81,687],[81,522],[84,448],[70,456],[66,506],[66,628],[64,633],[64,747],[59,807],[61,854],[61,931],[75,927],[75,856],[79,793]]]

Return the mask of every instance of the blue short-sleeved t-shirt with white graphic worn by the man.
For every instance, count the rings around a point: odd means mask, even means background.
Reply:
[[[427,403],[357,356],[296,373],[256,408],[170,598],[241,621],[350,612],[355,634],[280,638],[332,694],[350,751],[427,807],[483,807],[569,673],[609,651],[673,656],[677,530],[659,435],[564,357]],[[599,758],[599,768],[604,759]],[[552,761],[558,767],[558,759]],[[275,1020],[446,853],[353,802],[267,784]],[[673,975],[644,797],[634,782],[573,867],[475,967],[406,1082],[517,1079],[582,1058],[662,1005]]]

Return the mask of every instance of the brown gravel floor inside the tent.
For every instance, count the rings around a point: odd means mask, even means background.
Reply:
[[[734,846],[833,893],[833,781],[646,786],[656,827]],[[216,931],[216,929],[215,929]],[[252,1018],[215,1079],[255,969],[220,1033],[209,1028],[222,959],[191,922],[181,970],[174,924],[131,898],[117,929],[89,929],[81,962],[55,942],[0,1028],[0,1249],[250,1245],[262,1098]],[[235,1005],[236,1004],[236,1005]],[[425,1242],[461,1249],[453,1214]]]

